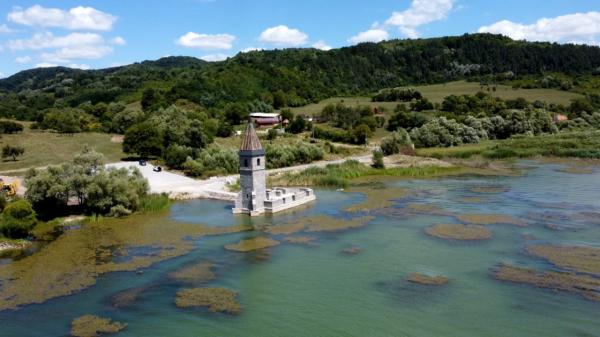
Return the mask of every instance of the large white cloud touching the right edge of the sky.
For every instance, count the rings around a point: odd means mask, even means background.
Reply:
[[[506,35],[515,40],[598,44],[600,12],[574,13],[541,18],[532,24],[498,21],[479,28],[480,33]]]

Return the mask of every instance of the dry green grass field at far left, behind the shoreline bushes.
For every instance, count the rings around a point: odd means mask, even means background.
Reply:
[[[25,154],[17,161],[0,161],[1,172],[64,163],[72,160],[85,144],[104,154],[107,162],[124,157],[121,143],[112,142],[111,135],[105,133],[62,135],[25,128],[20,134],[3,135],[0,142],[1,146],[10,144],[25,148]]]

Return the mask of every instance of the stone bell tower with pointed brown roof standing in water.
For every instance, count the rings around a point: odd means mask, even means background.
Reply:
[[[248,122],[240,147],[240,187],[233,213],[259,215],[265,211],[266,160],[254,124]]]

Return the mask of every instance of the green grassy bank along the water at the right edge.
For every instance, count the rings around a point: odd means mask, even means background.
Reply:
[[[571,132],[537,137],[519,136],[502,141],[449,148],[417,150],[417,155],[434,158],[486,159],[561,157],[600,159],[600,132]]]

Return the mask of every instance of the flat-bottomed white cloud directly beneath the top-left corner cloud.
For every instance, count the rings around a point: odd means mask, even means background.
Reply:
[[[8,41],[11,50],[38,50],[48,48],[63,48],[82,45],[104,44],[102,35],[95,33],[71,33],[65,36],[55,36],[50,32],[36,33],[31,39]]]

